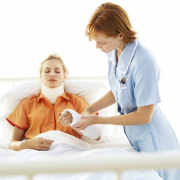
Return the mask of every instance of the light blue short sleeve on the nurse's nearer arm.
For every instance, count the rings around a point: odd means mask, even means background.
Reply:
[[[158,79],[159,68],[155,60],[142,59],[134,73],[134,96],[137,107],[161,102]]]

